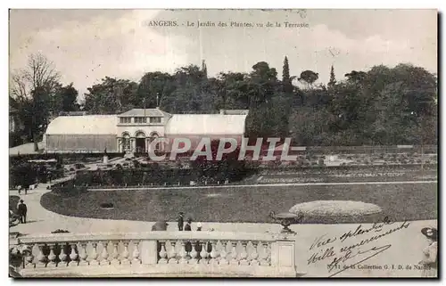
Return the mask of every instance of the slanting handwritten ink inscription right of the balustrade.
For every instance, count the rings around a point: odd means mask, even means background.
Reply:
[[[309,250],[311,252],[310,257],[307,259],[307,264],[324,262],[330,277],[340,274],[349,268],[355,268],[355,266],[392,247],[392,244],[368,246],[370,243],[379,242],[382,237],[406,229],[410,225],[409,222],[405,221],[393,227],[387,226],[393,224],[389,217],[385,217],[383,222],[375,223],[368,228],[359,225],[339,236],[327,237],[326,234],[321,235],[310,245]],[[348,241],[353,239],[353,243],[348,243]],[[372,269],[375,266],[370,267],[369,269]]]

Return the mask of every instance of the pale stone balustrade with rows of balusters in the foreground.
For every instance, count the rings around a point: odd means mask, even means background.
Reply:
[[[57,233],[22,237],[25,277],[295,277],[293,235]]]

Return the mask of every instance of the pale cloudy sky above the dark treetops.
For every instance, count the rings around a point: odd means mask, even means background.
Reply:
[[[177,26],[151,26],[153,20]],[[215,27],[197,27],[211,21]],[[304,27],[285,27],[285,21]],[[188,27],[194,23],[193,26]],[[227,27],[218,27],[219,22]],[[229,27],[250,23],[252,27]],[[273,27],[267,27],[271,22]],[[276,27],[276,22],[280,27]],[[257,27],[262,23],[263,27]],[[281,77],[310,69],[326,84],[351,70],[412,63],[437,72],[435,10],[11,10],[10,71],[43,53],[82,95],[106,76],[139,81],[206,61],[208,74],[250,72],[267,61]]]

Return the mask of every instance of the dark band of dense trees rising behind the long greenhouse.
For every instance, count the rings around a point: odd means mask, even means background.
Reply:
[[[285,57],[282,78],[265,61],[250,73],[221,72],[216,78],[208,76],[204,61],[173,74],[148,72],[139,82],[105,77],[88,88],[81,106],[74,87],[54,77],[40,80],[46,86],[30,91],[26,101],[16,88],[10,104],[25,123],[21,134],[27,140],[42,135],[50,115],[60,111],[114,114],[159,105],[170,113],[250,110],[248,137],[291,136],[301,146],[437,143],[437,77],[427,70],[378,65],[336,78],[333,66],[293,76],[290,65]],[[319,72],[330,73],[328,83],[318,81]]]

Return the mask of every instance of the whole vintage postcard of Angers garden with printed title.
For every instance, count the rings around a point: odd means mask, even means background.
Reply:
[[[10,276],[437,277],[437,13],[10,10]]]

